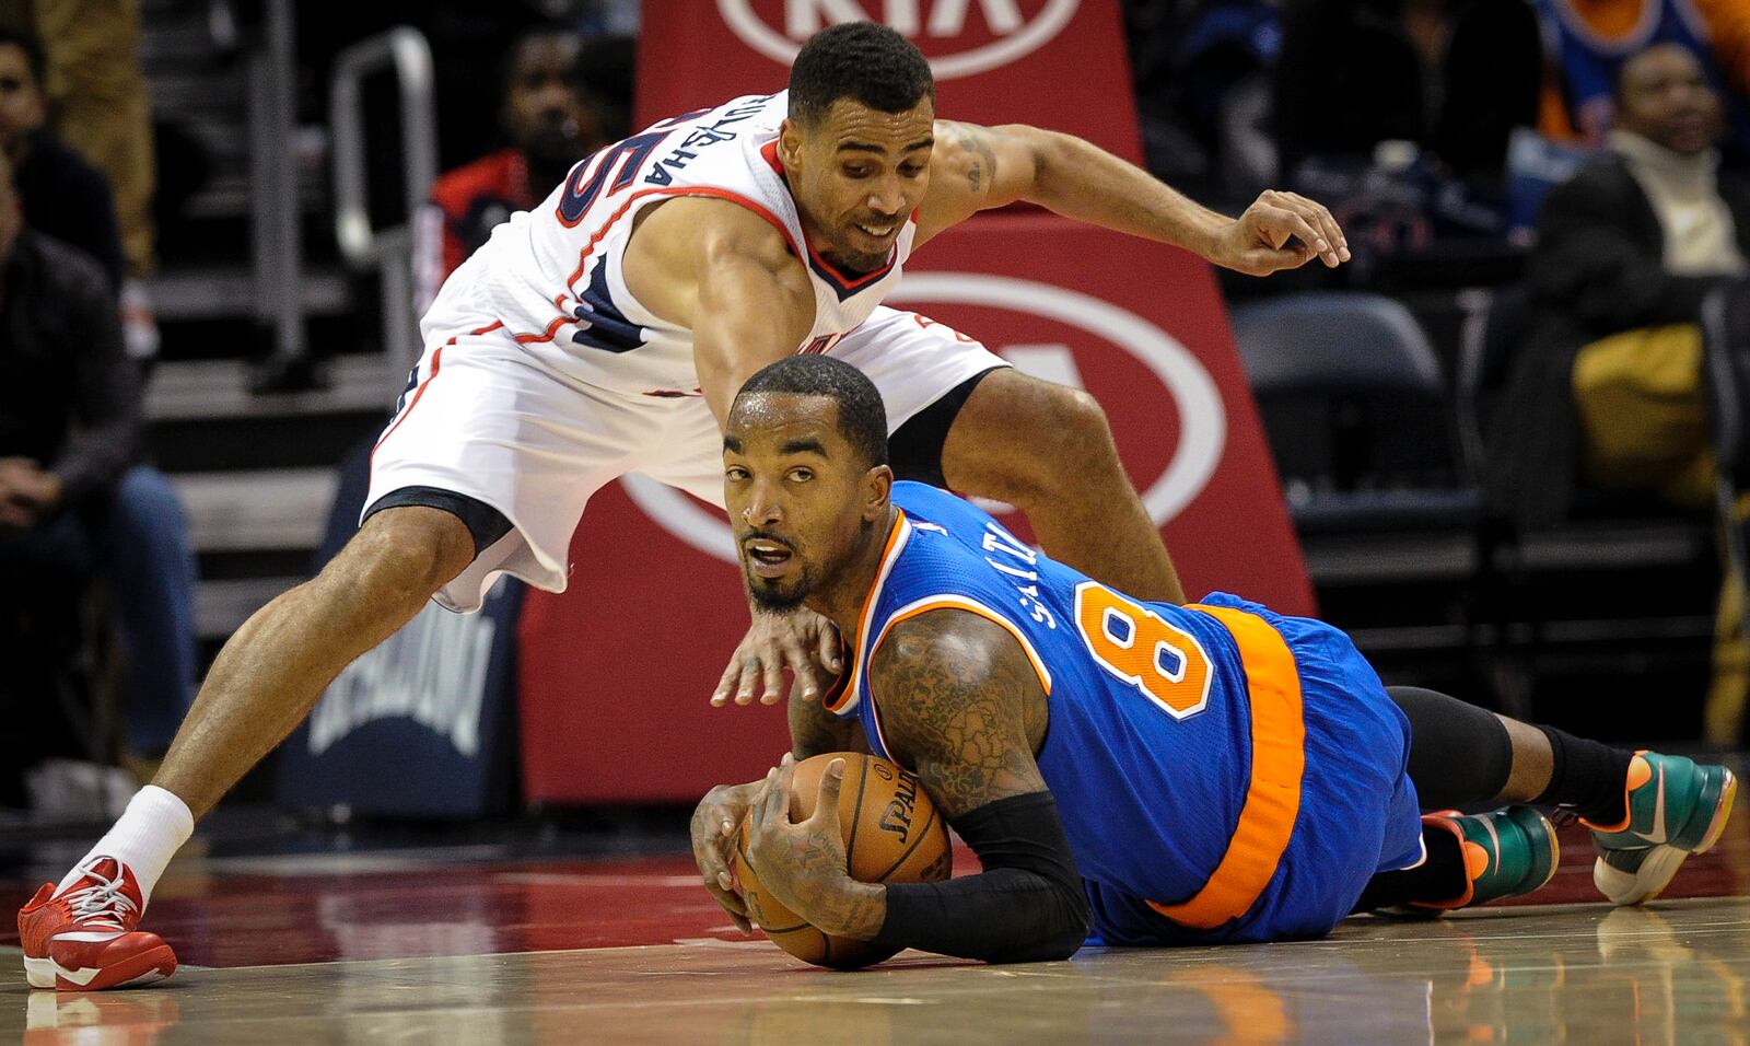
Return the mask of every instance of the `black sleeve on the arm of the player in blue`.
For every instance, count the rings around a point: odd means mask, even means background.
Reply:
[[[887,920],[875,943],[984,962],[1074,955],[1094,917],[1052,792],[998,799],[952,824],[984,871],[887,883]]]

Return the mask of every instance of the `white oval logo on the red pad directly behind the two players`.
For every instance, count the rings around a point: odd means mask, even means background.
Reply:
[[[1176,338],[1110,301],[1050,283],[987,276],[982,273],[906,273],[889,303],[978,304],[1029,313],[1080,327],[1136,357],[1160,380],[1180,411],[1180,443],[1166,471],[1143,492],[1143,507],[1157,526],[1197,500],[1227,450],[1227,408],[1209,371]],[[1059,345],[1017,345],[1017,364],[1040,366],[1059,376],[1074,376],[1074,362]],[[1027,367],[1024,367],[1027,369]],[[1068,381],[1066,381],[1068,383]],[[735,563],[735,539],[721,516],[691,497],[648,476],[625,476],[621,485],[646,516],[707,556]],[[996,502],[989,502],[996,504]]]

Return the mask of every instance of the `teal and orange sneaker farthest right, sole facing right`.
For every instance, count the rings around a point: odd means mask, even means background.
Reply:
[[[1652,901],[1690,854],[1720,840],[1736,792],[1738,778],[1724,766],[1634,752],[1628,817],[1610,826],[1582,822],[1598,847],[1592,883],[1614,904]]]

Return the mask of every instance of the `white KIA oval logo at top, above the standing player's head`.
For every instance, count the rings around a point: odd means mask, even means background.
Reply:
[[[938,80],[952,80],[1008,65],[1050,42],[1074,17],[1082,0],[1046,0],[1029,21],[1017,0],[976,0],[985,28],[996,37],[987,44],[948,54],[926,54]],[[880,7],[880,17],[870,7]],[[924,17],[924,7],[929,17]],[[774,61],[789,65],[802,42],[830,24],[880,21],[896,33],[928,40],[954,40],[966,31],[973,0],[784,0],[784,30],[766,24],[752,0],[718,0],[718,14],[744,44]],[[931,47],[934,51],[934,47]]]

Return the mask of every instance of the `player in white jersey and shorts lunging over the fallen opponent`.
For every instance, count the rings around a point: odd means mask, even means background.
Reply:
[[[786,93],[604,149],[444,283],[359,533],[236,631],[154,784],[19,913],[30,983],[172,973],[170,946],[136,929],[152,885],[346,663],[427,598],[476,609],[499,574],[564,589],[584,502],[621,474],[721,504],[730,401],[796,352],[875,381],[901,478],[1012,502],[1057,560],[1183,602],[1092,399],[880,306],[914,248],[1020,199],[1251,275],[1348,259],[1330,213],[1298,196],[1265,192],[1236,220],[1080,138],[936,121],[922,54],[868,23],[814,37]],[[775,701],[786,666],[819,693],[836,644],[812,614],[756,616],[714,701]]]

